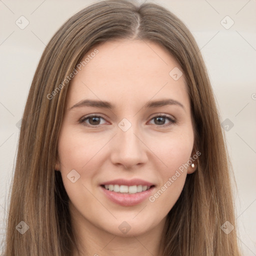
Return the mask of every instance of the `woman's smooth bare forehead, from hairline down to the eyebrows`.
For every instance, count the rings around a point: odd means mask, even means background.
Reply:
[[[91,54],[95,52],[96,54]],[[135,105],[171,97],[189,104],[185,79],[174,80],[173,68],[181,70],[175,58],[161,45],[142,40],[112,40],[92,47],[82,58],[68,93],[68,106],[84,98]],[[186,106],[188,108],[188,105]]]

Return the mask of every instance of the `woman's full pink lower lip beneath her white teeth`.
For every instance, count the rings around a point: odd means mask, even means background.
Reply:
[[[104,194],[110,199],[112,202],[115,202],[122,206],[133,206],[141,203],[146,198],[148,198],[154,188],[154,186],[150,187],[148,190],[131,193],[131,194],[124,194],[124,193],[117,193],[114,191],[109,191],[104,187],[100,186]]]

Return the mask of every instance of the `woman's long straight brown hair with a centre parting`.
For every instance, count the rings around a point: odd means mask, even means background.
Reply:
[[[201,152],[196,171],[187,175],[167,214],[163,255],[239,256],[231,165],[200,50],[169,10],[126,0],[99,1],[82,9],[57,30],[42,53],[20,127],[4,255],[68,256],[76,247],[68,196],[59,171],[54,171],[70,84],[66,77],[89,49],[122,38],[157,42],[178,61],[190,97],[194,145]],[[220,228],[225,221],[234,226],[228,234]],[[29,229],[21,234],[17,225],[24,223]]]

